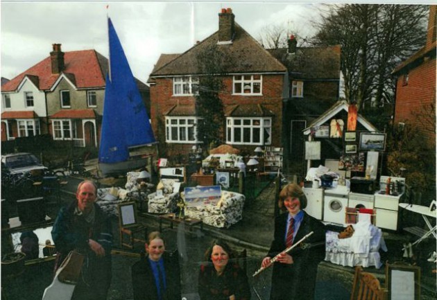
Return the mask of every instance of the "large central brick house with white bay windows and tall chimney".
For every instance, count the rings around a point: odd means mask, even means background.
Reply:
[[[228,62],[218,92],[224,107],[222,141],[243,152],[257,146],[282,146],[282,103],[286,97],[286,67],[251,37],[230,8],[218,14],[218,31],[185,53],[162,54],[151,84],[151,122],[162,155],[188,153],[200,145],[196,136],[196,91],[205,73],[198,57],[216,47]],[[200,145],[200,147],[205,147]],[[165,152],[162,151],[165,149]]]

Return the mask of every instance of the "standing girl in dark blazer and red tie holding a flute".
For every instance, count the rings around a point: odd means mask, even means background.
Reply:
[[[262,267],[267,267],[271,258],[280,254],[273,265],[270,299],[314,299],[318,263],[325,258],[325,226],[302,210],[307,206],[307,198],[297,184],[287,184],[282,189],[278,204],[286,213],[275,219],[274,240],[262,261]],[[311,231],[314,233],[300,245],[283,253],[292,245],[291,240],[297,242]],[[302,248],[304,243],[309,247]]]

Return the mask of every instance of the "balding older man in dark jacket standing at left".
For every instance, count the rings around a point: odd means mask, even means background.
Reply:
[[[58,250],[57,266],[71,250],[85,254],[72,300],[105,300],[111,283],[111,222],[94,203],[96,192],[94,182],[81,182],[76,200],[60,209],[51,231]]]

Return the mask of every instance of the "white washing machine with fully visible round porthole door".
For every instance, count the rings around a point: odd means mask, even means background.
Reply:
[[[326,189],[323,200],[323,221],[345,224],[348,191],[345,189]]]

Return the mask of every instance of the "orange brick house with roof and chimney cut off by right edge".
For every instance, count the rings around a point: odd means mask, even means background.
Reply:
[[[431,145],[436,142],[436,6],[430,6],[427,44],[395,68],[396,127],[412,126]],[[431,124],[434,124],[431,125]]]

